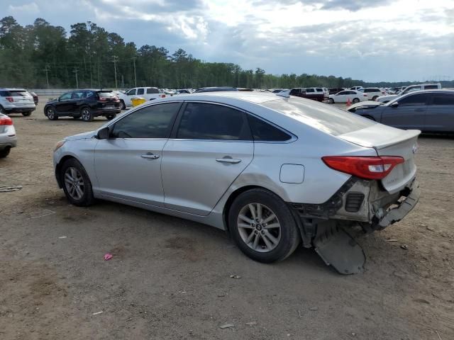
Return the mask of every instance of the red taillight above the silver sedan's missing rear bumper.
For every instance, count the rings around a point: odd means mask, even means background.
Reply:
[[[404,163],[402,157],[358,157],[358,156],[327,156],[321,157],[331,169],[345,172],[361,179],[384,179],[397,164]]]

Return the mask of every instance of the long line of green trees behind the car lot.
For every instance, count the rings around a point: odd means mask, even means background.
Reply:
[[[407,84],[410,83],[367,83],[316,74],[276,75],[267,74],[260,67],[242,69],[233,63],[204,62],[181,48],[170,54],[165,47],[137,47],[91,21],[74,23],[68,35],[65,28],[52,26],[43,18],[25,27],[12,16],[0,20],[0,87],[273,89]]]

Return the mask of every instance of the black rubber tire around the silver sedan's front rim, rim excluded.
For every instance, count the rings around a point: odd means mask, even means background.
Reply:
[[[74,176],[79,179],[82,177],[83,182],[83,194],[80,198],[75,197],[73,193],[70,193],[71,185],[66,182],[66,174],[70,174],[72,169],[77,169],[80,176]],[[65,163],[63,163],[61,172],[60,172],[60,179],[62,181],[63,191],[65,191],[66,198],[70,201],[71,204],[77,205],[78,207],[88,207],[94,203],[93,197],[93,188],[92,188],[92,181],[90,181],[87,171],[85,171],[84,166],[77,161],[77,159],[68,159]],[[80,181],[79,181],[80,183]]]

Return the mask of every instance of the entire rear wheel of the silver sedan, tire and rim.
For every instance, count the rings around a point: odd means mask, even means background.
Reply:
[[[245,191],[233,201],[228,226],[241,251],[263,263],[286,259],[300,242],[289,207],[264,189]]]

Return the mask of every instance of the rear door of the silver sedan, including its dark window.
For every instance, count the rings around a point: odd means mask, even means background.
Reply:
[[[165,207],[209,215],[253,159],[254,144],[243,111],[189,102],[162,152]]]

